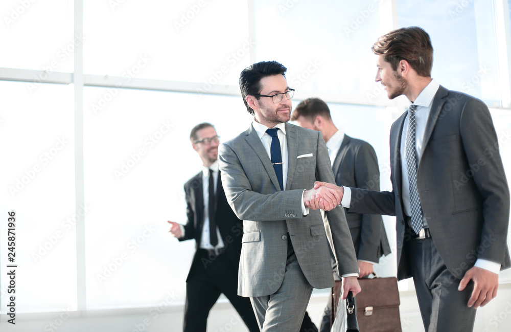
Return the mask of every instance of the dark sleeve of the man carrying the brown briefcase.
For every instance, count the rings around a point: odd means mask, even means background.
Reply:
[[[358,188],[380,191],[380,170],[376,152],[368,143],[362,144],[355,156],[355,182]],[[378,249],[383,220],[379,214],[362,214],[358,259],[378,262]]]

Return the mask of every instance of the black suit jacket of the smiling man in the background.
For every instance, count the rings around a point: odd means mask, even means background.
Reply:
[[[184,225],[184,236],[179,238],[179,241],[195,239],[195,248],[198,250],[202,236],[202,226],[204,225],[202,172],[199,172],[184,184],[184,194],[187,202],[188,220],[187,224]],[[224,242],[225,253],[228,255],[231,263],[233,263],[235,271],[238,271],[241,255],[241,239],[243,237],[243,222],[238,219],[227,204],[220,174],[218,174],[215,220]],[[197,251],[194,254],[193,260],[196,259],[196,256]],[[211,260],[211,263],[214,263],[214,259]],[[188,277],[190,277],[190,273]]]

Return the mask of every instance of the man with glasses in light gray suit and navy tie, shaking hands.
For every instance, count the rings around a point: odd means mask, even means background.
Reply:
[[[227,201],[243,219],[238,294],[250,297],[262,331],[297,331],[313,287],[334,282],[328,241],[343,277],[342,297],[360,292],[358,267],[321,133],[287,123],[294,90],[275,61],[243,70],[240,88],[252,124],[219,147]],[[328,219],[314,207],[327,210]],[[333,210],[332,210],[333,209]]]

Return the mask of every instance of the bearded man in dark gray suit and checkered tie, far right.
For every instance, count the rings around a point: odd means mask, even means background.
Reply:
[[[423,29],[391,31],[372,50],[388,97],[412,103],[390,129],[392,192],[336,191],[349,212],[396,215],[398,279],[413,277],[425,329],[471,331],[511,263],[509,188],[490,112],[431,79]]]

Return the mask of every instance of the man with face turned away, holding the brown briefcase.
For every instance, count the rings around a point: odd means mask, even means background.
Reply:
[[[380,170],[373,147],[362,140],[347,136],[337,129],[326,102],[309,98],[300,102],[291,114],[300,127],[321,131],[327,144],[335,183],[338,186],[380,190]],[[390,254],[387,234],[381,215],[351,213],[346,215],[355,245],[359,278],[373,273],[380,257]],[[335,259],[332,261],[335,268]],[[334,270],[334,280],[340,280]],[[321,321],[321,332],[330,331],[331,299]]]

